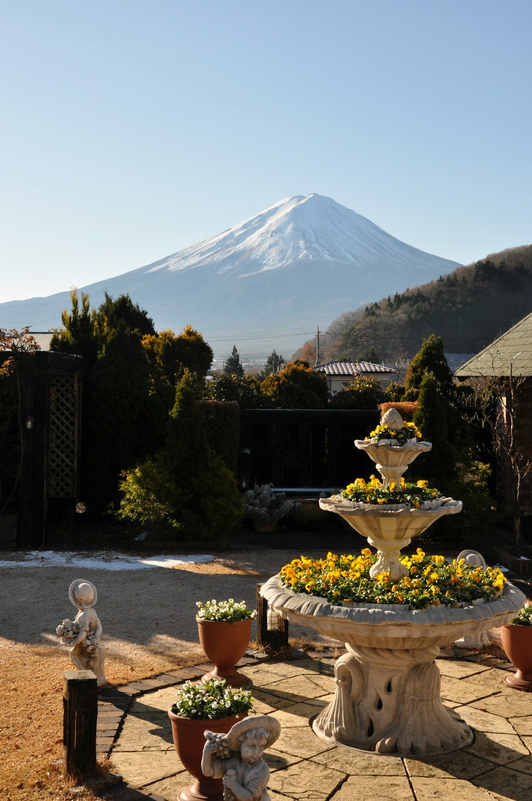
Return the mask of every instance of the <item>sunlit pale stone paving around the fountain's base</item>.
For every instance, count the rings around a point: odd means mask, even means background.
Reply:
[[[445,705],[474,728],[475,741],[449,755],[401,759],[331,745],[313,734],[309,718],[334,692],[334,661],[331,652],[243,660],[240,670],[252,682],[256,712],[274,715],[282,727],[265,755],[272,801],[532,801],[532,694],[506,687],[504,669],[438,659]],[[176,670],[103,694],[99,751],[111,748],[124,782],[107,798],[177,801],[192,778],[175,754],[167,709],[176,685],[209,667]]]

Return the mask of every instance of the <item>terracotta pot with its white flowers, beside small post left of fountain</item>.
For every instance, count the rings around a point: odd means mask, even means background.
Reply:
[[[240,686],[248,677],[239,673],[235,665],[240,662],[248,647],[252,633],[252,619],[256,610],[250,610],[244,601],[197,601],[198,633],[200,644],[214,670],[202,677],[203,682],[211,678],[224,678],[230,686]]]

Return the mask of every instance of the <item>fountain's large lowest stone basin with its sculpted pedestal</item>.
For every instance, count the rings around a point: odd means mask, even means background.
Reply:
[[[284,590],[280,578],[260,594],[281,617],[345,642],[335,665],[332,702],[312,724],[328,742],[377,754],[446,754],[473,740],[470,730],[440,698],[440,646],[464,634],[502,626],[525,596],[507,582],[496,601],[478,606],[383,610],[332,606]]]

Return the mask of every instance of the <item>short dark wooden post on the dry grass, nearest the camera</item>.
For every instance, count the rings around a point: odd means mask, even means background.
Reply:
[[[96,767],[98,687],[92,670],[65,670],[62,684],[62,769],[76,781]]]

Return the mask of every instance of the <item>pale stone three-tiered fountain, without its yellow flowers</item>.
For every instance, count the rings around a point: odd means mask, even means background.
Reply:
[[[402,427],[399,420],[392,417],[394,428]],[[432,447],[429,442],[398,447],[361,440],[355,445],[376,462],[383,485],[398,482],[408,465]],[[399,562],[401,548],[438,517],[460,512],[461,501],[445,498],[438,509],[426,510],[350,509],[332,497],[320,500],[320,506],[340,514],[377,548],[372,578],[387,570],[397,580],[407,574]],[[279,576],[270,578],[261,594],[283,618],[345,642],[348,653],[337,660],[334,670],[335,697],[312,724],[316,735],[364,751],[401,756],[445,754],[472,742],[470,727],[441,702],[435,658],[440,646],[510,622],[525,602],[510,582],[500,598],[457,609],[332,606],[284,590]]]

